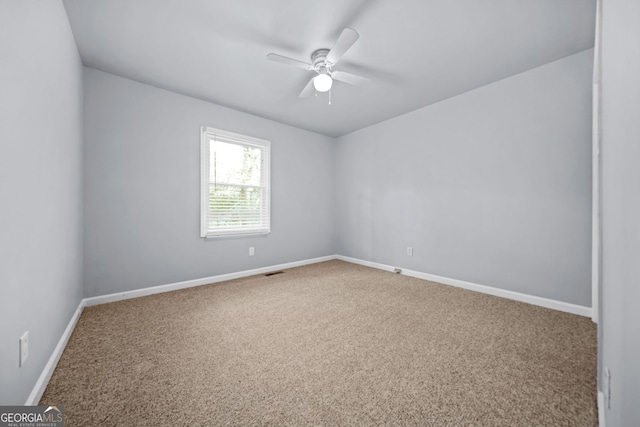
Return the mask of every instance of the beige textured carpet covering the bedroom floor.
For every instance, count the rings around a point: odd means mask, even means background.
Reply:
[[[590,319],[341,261],[88,307],[67,426],[596,426]]]

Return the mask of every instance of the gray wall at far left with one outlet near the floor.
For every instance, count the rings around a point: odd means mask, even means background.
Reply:
[[[62,4],[0,2],[0,61],[0,405],[22,405],[82,298],[82,65]]]

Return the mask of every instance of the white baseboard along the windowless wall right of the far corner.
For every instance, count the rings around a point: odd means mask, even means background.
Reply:
[[[354,264],[360,264],[367,267],[378,268],[380,270],[391,271],[396,267],[380,264],[377,262],[364,261],[357,258],[346,257],[338,255],[336,257],[342,261],[352,262]],[[508,291],[505,289],[493,288],[491,286],[478,285],[476,283],[465,282],[463,280],[450,279],[448,277],[436,276],[434,274],[422,273],[420,271],[402,269],[402,273],[406,276],[415,277],[418,279],[429,280],[431,282],[442,283],[444,285],[455,286],[458,288],[468,289],[470,291],[481,292],[483,294],[489,294],[497,297],[507,298],[515,301],[526,302],[528,304],[538,305],[541,307],[551,308],[558,311],[564,311],[566,313],[577,314],[580,316],[591,317],[591,308],[581,305],[571,304],[562,301],[556,301],[548,298],[537,297],[528,294],[522,294],[520,292]]]

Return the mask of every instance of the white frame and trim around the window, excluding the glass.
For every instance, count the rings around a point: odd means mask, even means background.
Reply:
[[[210,143],[220,140],[242,146],[259,148],[261,154],[262,218],[259,227],[238,227],[226,229],[209,229],[209,188],[210,188]],[[200,128],[200,237],[216,238],[229,236],[265,235],[271,232],[271,141],[239,133],[215,129],[207,126]]]

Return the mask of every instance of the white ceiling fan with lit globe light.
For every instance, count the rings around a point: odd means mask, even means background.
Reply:
[[[342,30],[340,37],[333,45],[331,49],[318,49],[311,54],[311,63],[298,61],[297,59],[288,58],[286,56],[278,55],[277,53],[270,53],[267,55],[267,59],[282,64],[293,65],[294,67],[302,68],[307,71],[314,71],[316,75],[309,80],[309,83],[302,89],[300,98],[309,96],[313,89],[318,92],[327,92],[331,89],[333,80],[338,80],[350,85],[361,86],[369,81],[368,78],[358,76],[356,74],[347,73],[346,71],[337,71],[333,67],[340,61],[342,56],[353,46],[358,40],[360,35],[352,28],[345,28]]]

